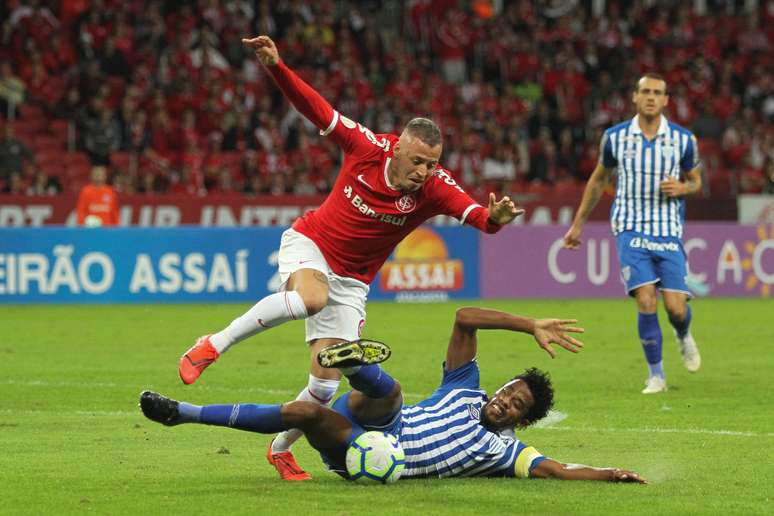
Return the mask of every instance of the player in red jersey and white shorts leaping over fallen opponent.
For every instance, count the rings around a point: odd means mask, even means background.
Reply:
[[[283,288],[224,330],[199,338],[180,359],[180,378],[196,381],[230,346],[293,319],[306,320],[311,352],[309,384],[298,400],[328,405],[341,378],[314,360],[322,348],[360,337],[368,285],[395,246],[436,215],[450,215],[481,231],[495,233],[523,213],[504,197],[489,196],[484,208],[467,195],[439,164],[438,126],[415,118],[400,137],[374,134],[334,110],[280,60],[267,36],[244,39],[290,103],[344,152],[336,183],[319,209],[308,212],[282,235],[279,272]],[[290,446],[298,430],[279,434],[268,459],[286,480],[309,475]]]

